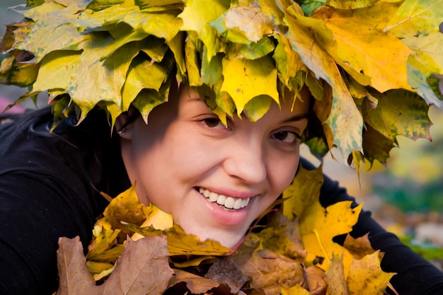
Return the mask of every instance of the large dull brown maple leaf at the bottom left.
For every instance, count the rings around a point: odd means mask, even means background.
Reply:
[[[168,263],[165,236],[147,237],[137,242],[128,240],[113,274],[100,286],[96,286],[86,268],[86,258],[78,236],[59,239],[57,265],[57,295],[163,294],[173,275]]]

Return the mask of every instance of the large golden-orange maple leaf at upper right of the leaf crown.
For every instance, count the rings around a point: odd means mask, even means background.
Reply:
[[[313,18],[324,20],[325,27],[317,25],[315,28],[323,30],[317,37],[322,36],[321,44],[328,53],[359,83],[370,84],[380,92],[393,88],[411,90],[405,65],[413,50],[395,35],[382,31],[398,5],[377,1],[357,10],[323,6],[312,14]],[[324,30],[330,30],[331,36],[326,38]],[[399,68],[399,64],[404,66]],[[396,71],[391,71],[394,68]]]

